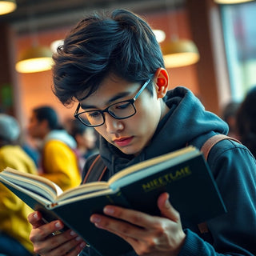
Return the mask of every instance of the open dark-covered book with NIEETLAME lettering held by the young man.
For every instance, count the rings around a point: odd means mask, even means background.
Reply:
[[[46,178],[6,168],[0,182],[50,222],[61,219],[102,255],[131,250],[122,238],[97,229],[90,215],[114,204],[159,215],[157,199],[167,191],[185,222],[198,224],[226,212],[218,187],[202,153],[188,146],[114,174],[108,182],[90,182],[62,190]]]

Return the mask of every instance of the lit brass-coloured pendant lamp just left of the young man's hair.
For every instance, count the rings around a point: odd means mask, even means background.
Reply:
[[[53,64],[52,54],[52,51],[45,46],[33,46],[22,52],[15,68],[20,73],[50,70]]]

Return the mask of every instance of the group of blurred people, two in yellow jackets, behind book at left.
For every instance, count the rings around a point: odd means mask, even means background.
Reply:
[[[82,124],[81,124],[82,125]],[[61,123],[50,106],[30,113],[27,129],[17,119],[0,114],[0,171],[7,166],[48,178],[62,190],[78,186],[82,167],[97,154],[97,134],[77,120]],[[0,183],[0,255],[31,256],[33,246],[27,216],[32,210]]]

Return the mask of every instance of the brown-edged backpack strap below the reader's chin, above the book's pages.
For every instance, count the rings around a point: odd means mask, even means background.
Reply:
[[[102,161],[101,156],[98,154],[94,161],[90,165],[89,170],[86,173],[85,178],[82,181],[82,184],[86,182],[96,182],[102,179],[103,174],[106,172],[106,166]]]

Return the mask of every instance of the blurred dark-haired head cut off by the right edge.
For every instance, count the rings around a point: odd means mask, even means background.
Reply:
[[[238,108],[236,129],[238,139],[256,157],[256,86],[247,92]]]

